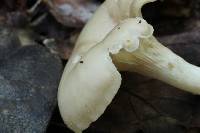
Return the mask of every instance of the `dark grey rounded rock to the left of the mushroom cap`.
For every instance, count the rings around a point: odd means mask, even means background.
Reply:
[[[62,63],[39,45],[0,62],[0,133],[45,132],[56,106]]]

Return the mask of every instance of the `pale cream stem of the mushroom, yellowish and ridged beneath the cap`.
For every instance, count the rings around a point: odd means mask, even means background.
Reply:
[[[141,39],[139,49],[131,53],[121,51],[113,60],[120,70],[137,72],[200,94],[200,68],[186,62],[154,37]]]

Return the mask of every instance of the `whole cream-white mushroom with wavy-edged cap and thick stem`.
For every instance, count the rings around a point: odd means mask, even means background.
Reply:
[[[200,69],[153,37],[141,7],[154,0],[106,0],[81,32],[65,67],[58,104],[67,126],[81,133],[111,103],[121,71],[133,71],[200,94]],[[118,69],[118,70],[117,70]]]

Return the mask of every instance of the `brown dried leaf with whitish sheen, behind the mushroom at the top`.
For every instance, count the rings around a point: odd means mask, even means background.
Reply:
[[[69,27],[83,27],[98,6],[86,0],[48,0],[45,3],[57,21]]]

